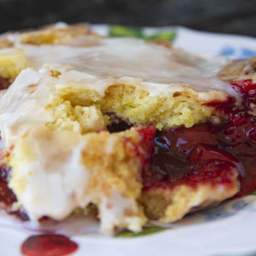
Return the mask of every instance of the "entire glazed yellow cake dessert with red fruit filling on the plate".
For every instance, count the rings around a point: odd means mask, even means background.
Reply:
[[[0,46],[9,212],[40,223],[96,208],[102,233],[138,232],[256,188],[255,58],[205,60],[83,24]]]

